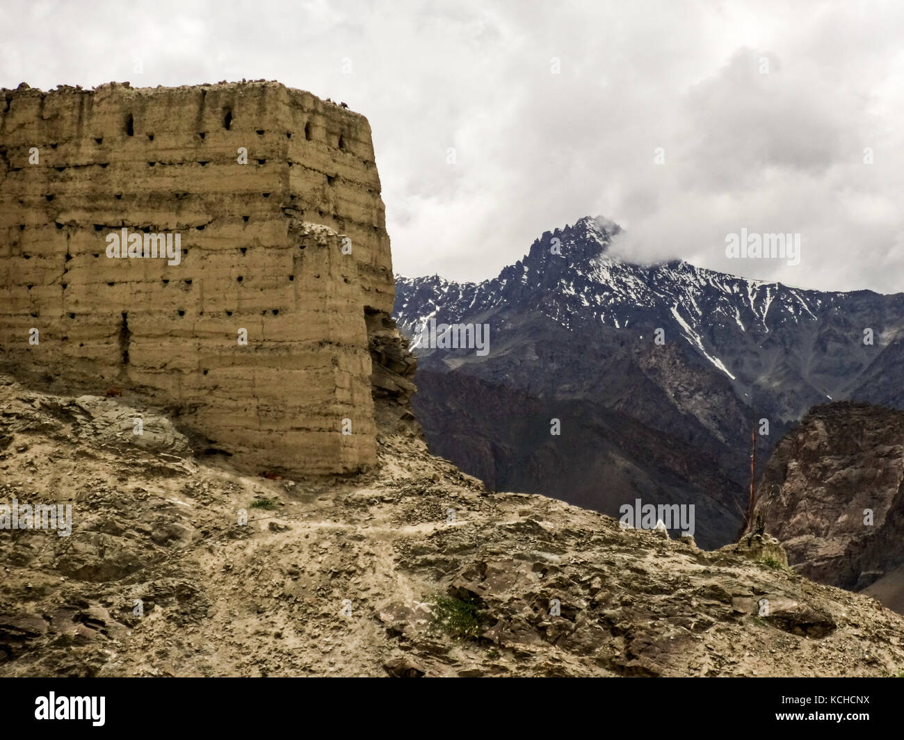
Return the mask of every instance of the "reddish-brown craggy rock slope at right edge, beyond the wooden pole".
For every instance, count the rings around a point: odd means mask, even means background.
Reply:
[[[769,459],[751,529],[820,583],[861,590],[904,562],[904,413],[815,407]]]

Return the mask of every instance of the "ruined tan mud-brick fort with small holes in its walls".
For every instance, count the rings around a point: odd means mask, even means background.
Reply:
[[[18,377],[133,394],[239,464],[347,473],[376,460],[392,299],[364,117],[272,82],[0,91]]]

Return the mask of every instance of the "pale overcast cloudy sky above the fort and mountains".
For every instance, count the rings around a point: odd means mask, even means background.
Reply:
[[[4,0],[0,27],[4,87],[264,78],[344,100],[371,122],[397,273],[495,276],[602,214],[632,260],[904,291],[897,0]],[[799,233],[800,264],[726,258],[742,228]]]

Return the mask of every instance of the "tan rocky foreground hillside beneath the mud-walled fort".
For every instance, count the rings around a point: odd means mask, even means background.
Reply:
[[[400,373],[400,376],[403,373]],[[0,676],[886,676],[904,618],[769,539],[714,552],[488,494],[382,436],[354,478],[240,475],[122,398],[0,382]],[[133,434],[137,413],[144,434]],[[240,524],[243,513],[247,524]]]

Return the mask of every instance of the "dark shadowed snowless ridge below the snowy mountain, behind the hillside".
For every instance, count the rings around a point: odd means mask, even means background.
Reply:
[[[420,370],[417,379],[413,407],[432,452],[491,490],[542,493],[614,517],[638,498],[692,504],[703,548],[738,529],[739,486],[699,447],[588,400],[532,396],[466,373]],[[678,537],[677,522],[671,529]]]

